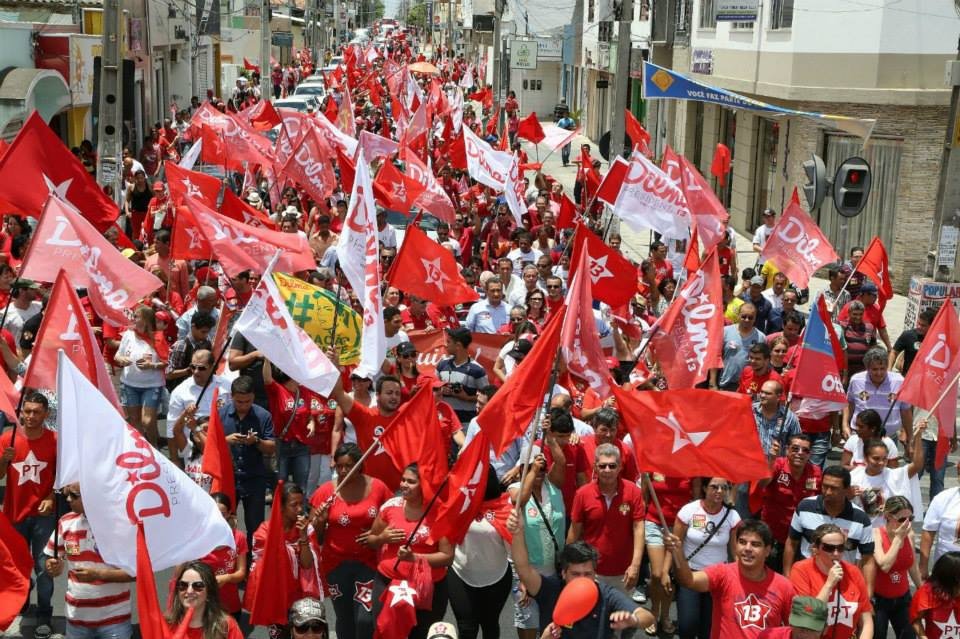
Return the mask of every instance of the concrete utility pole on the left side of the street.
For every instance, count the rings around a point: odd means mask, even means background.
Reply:
[[[113,187],[120,202],[122,190],[123,61],[120,59],[120,0],[103,2],[103,52],[100,55],[100,103],[97,118],[97,182]]]

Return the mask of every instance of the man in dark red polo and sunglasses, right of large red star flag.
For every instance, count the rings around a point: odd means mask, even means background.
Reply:
[[[773,552],[767,565],[783,572],[783,546],[790,532],[790,521],[801,499],[820,494],[820,467],[810,463],[813,444],[808,435],[793,435],[787,442],[785,457],[773,457],[770,478],[759,482],[763,505],[760,519],[773,533]]]

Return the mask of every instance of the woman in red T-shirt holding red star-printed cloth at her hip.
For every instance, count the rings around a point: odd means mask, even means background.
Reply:
[[[424,517],[426,504],[420,488],[420,469],[410,464],[400,478],[400,497],[388,499],[380,507],[380,513],[367,538],[368,543],[379,549],[377,577],[374,580],[374,617],[379,616],[383,603],[380,596],[391,580],[413,577],[416,560],[423,559],[430,566],[433,577],[433,601],[426,610],[417,610],[417,625],[410,631],[410,639],[426,639],[431,624],[441,621],[447,611],[447,566],[453,563],[453,546],[444,537],[433,539],[436,511]],[[420,522],[421,517],[424,517]],[[418,525],[419,524],[419,525]],[[413,539],[410,543],[411,533]]]

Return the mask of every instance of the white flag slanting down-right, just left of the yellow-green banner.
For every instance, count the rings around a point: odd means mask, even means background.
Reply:
[[[340,371],[294,323],[273,281],[275,261],[271,261],[260,278],[237,319],[236,329],[274,366],[310,390],[327,396],[337,383]]]

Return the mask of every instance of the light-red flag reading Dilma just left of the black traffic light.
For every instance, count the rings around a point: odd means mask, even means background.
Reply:
[[[806,288],[817,269],[840,259],[817,223],[796,204],[787,205],[760,257],[773,262],[797,288]]]

